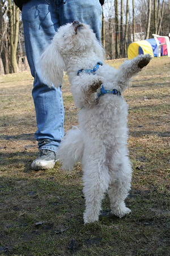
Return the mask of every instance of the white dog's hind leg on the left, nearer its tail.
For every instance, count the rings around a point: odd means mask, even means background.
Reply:
[[[99,151],[99,149],[98,149]],[[86,210],[84,212],[84,223],[99,220],[101,201],[104,193],[109,187],[110,176],[107,166],[100,159],[99,152],[91,155],[89,152],[87,159],[83,159],[83,182],[84,197],[86,199]]]

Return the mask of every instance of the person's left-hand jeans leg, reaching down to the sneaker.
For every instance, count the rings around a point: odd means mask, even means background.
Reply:
[[[36,74],[36,62],[53,39],[60,26],[57,7],[53,0],[31,0],[23,5],[25,49],[32,76],[32,96],[35,103],[39,149],[57,151],[63,137],[63,102],[61,88],[49,88]]]

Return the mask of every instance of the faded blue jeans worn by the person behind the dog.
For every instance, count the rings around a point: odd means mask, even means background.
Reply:
[[[30,0],[23,5],[25,50],[34,77],[32,96],[39,149],[57,151],[64,135],[64,108],[61,88],[49,88],[42,84],[36,75],[36,61],[57,29],[74,20],[90,24],[100,40],[101,13],[99,0]]]

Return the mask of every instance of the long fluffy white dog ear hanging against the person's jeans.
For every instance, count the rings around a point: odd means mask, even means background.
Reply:
[[[37,62],[37,75],[48,86],[60,86],[65,70],[64,60],[53,42],[45,49]]]

